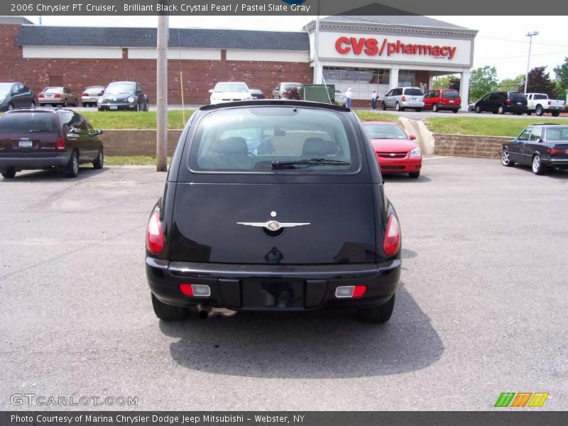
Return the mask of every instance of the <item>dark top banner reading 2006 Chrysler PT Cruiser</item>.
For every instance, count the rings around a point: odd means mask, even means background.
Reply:
[[[42,16],[568,15],[558,0],[3,0],[0,15]],[[504,27],[513,25],[511,21]]]

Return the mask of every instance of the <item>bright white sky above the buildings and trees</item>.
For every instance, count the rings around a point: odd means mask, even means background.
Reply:
[[[566,16],[431,16],[458,26],[479,30],[475,40],[474,67],[491,65],[497,77],[513,78],[527,72],[529,31],[532,38],[530,68],[553,68],[568,57]],[[38,16],[26,16],[38,23]],[[302,31],[315,16],[170,16],[171,28],[234,28],[264,31]],[[42,16],[43,25],[155,27],[156,16]]]

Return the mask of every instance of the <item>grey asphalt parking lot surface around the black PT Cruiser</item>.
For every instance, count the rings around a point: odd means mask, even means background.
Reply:
[[[492,410],[507,391],[568,408],[568,173],[433,157],[418,180],[386,178],[404,260],[381,326],[342,311],[158,321],[143,247],[164,180],[152,167],[0,180],[1,410],[58,409],[14,393],[131,396],[138,410]]]

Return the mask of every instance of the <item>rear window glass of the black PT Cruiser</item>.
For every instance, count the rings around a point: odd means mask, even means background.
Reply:
[[[349,122],[334,111],[302,107],[246,107],[212,111],[197,126],[193,172],[354,173],[359,155]],[[311,158],[349,165],[273,168],[274,161]]]

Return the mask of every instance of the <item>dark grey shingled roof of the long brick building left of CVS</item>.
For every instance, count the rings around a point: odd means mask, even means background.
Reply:
[[[155,48],[156,28],[23,25],[16,45]],[[307,33],[170,28],[170,48],[310,50]]]

